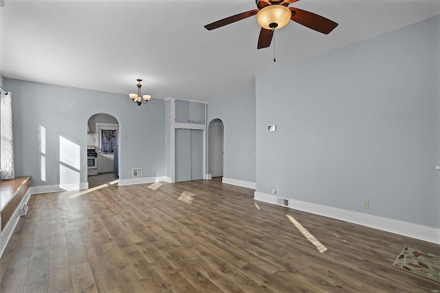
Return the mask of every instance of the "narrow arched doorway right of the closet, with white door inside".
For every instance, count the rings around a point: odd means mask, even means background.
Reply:
[[[220,119],[211,120],[209,133],[209,162],[212,177],[223,176],[223,122]]]

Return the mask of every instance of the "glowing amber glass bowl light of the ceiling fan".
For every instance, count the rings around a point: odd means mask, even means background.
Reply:
[[[266,30],[278,30],[287,25],[292,17],[289,8],[282,5],[266,6],[256,14],[256,21],[261,28]]]

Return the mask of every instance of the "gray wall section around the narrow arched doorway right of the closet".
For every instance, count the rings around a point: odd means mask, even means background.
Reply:
[[[208,102],[207,113],[206,124],[220,119],[228,139],[223,143],[223,177],[255,182],[255,91]]]

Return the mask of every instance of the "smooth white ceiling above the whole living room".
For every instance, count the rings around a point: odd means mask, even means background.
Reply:
[[[328,35],[291,21],[274,48],[257,50],[255,17],[203,25],[256,8],[235,1],[19,1],[0,8],[0,73],[6,78],[213,100],[248,91],[254,76],[440,14],[440,0],[301,0],[291,6],[339,23]]]

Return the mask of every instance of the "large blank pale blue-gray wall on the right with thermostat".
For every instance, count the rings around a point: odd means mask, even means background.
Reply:
[[[256,76],[256,191],[440,228],[439,32],[434,17]]]

